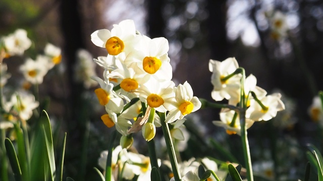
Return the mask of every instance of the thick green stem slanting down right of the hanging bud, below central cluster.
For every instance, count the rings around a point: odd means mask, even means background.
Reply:
[[[170,129],[168,127],[168,123],[165,122],[166,113],[159,113],[159,117],[160,117],[161,128],[163,128],[164,138],[166,141],[168,155],[171,161],[174,178],[175,178],[175,181],[180,181],[181,173],[179,172],[179,169],[177,166],[177,159],[176,159],[175,149],[171,138]]]

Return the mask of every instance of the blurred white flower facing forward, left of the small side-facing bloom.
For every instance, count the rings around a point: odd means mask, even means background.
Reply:
[[[47,65],[47,57],[38,55],[35,61],[31,58],[26,59],[25,63],[20,66],[20,71],[30,83],[40,84],[48,72]]]

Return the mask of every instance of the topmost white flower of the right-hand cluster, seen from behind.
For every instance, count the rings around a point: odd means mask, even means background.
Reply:
[[[209,61],[208,68],[212,72],[211,83],[213,85],[211,96],[214,100],[239,99],[241,74],[236,74],[223,80],[223,78],[233,73],[238,67],[238,62],[235,58],[227,58],[222,62],[217,60]]]

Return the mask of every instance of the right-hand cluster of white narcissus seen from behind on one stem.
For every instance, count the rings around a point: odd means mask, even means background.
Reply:
[[[246,128],[250,128],[255,121],[268,121],[285,109],[281,94],[267,95],[264,89],[256,86],[254,75],[245,78],[244,70],[235,58],[222,62],[210,60],[209,70],[212,72],[212,98],[216,101],[227,99],[229,105],[245,107]],[[224,127],[228,134],[240,134],[240,115],[236,111],[222,109],[220,119],[213,124]]]

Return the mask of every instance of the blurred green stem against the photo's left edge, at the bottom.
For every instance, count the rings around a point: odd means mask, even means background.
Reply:
[[[1,135],[0,135],[0,164],[1,164],[1,170],[0,174],[1,180],[8,181],[8,159],[6,155],[6,148],[5,148],[5,138],[6,138],[6,131],[5,129],[0,129]]]

